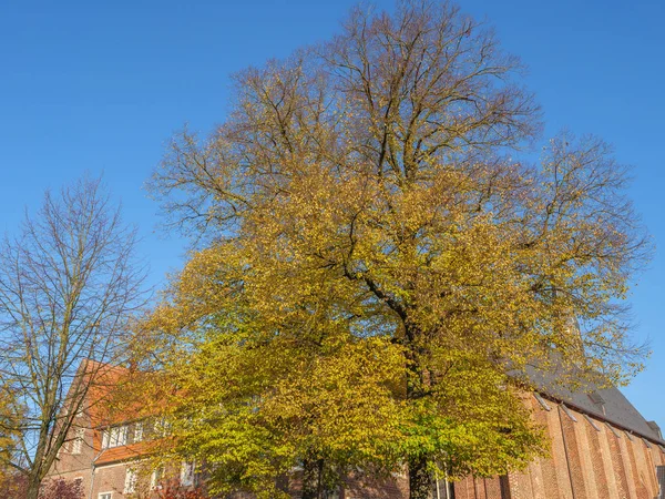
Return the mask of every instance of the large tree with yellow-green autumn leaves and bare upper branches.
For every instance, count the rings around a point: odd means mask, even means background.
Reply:
[[[174,139],[153,186],[197,246],[150,327],[197,342],[171,358],[172,407],[219,483],[298,462],[320,497],[326,466],[402,462],[427,498],[437,473],[541,449],[530,366],[640,367],[624,298],[648,245],[625,169],[594,138],[523,153],[540,125],[519,70],[448,3],[359,8],[237,74],[208,138]]]

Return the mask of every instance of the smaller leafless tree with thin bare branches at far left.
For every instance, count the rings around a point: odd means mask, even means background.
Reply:
[[[25,477],[37,499],[72,438],[104,363],[119,361],[129,315],[142,303],[135,232],[99,180],[47,192],[0,249],[2,430],[14,436],[2,467]],[[93,360],[93,361],[89,361]]]

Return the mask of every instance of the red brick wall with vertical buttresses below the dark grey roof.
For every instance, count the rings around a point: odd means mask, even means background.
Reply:
[[[534,419],[550,437],[551,452],[531,462],[523,472],[509,476],[510,499],[654,499],[658,493],[656,466],[665,455],[636,436],[572,409],[573,421],[564,410],[550,403],[544,410],[526,400]],[[616,432],[616,435],[615,435]],[[458,499],[503,499],[499,480],[467,478],[456,483]]]

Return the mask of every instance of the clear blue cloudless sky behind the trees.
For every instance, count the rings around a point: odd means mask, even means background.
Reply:
[[[155,233],[142,186],[164,142],[188,122],[224,120],[228,75],[332,34],[351,0],[0,2],[0,230],[45,187],[104,172],[136,223],[151,282],[177,269],[184,244]],[[376,4],[392,9],[393,2]],[[657,245],[632,301],[647,369],[625,390],[665,427],[665,2],[466,0],[529,65],[546,134],[612,142],[635,166],[632,195]]]

